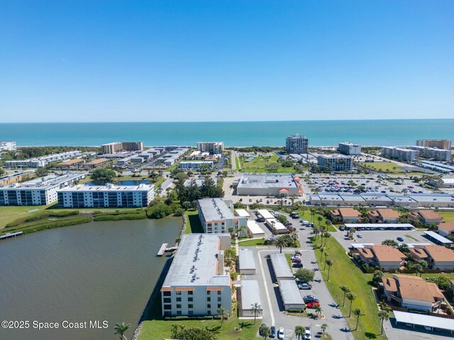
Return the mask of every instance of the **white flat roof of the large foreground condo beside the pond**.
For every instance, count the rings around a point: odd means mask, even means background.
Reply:
[[[229,285],[230,276],[216,275],[219,237],[229,234],[186,234],[179,243],[163,287]]]

